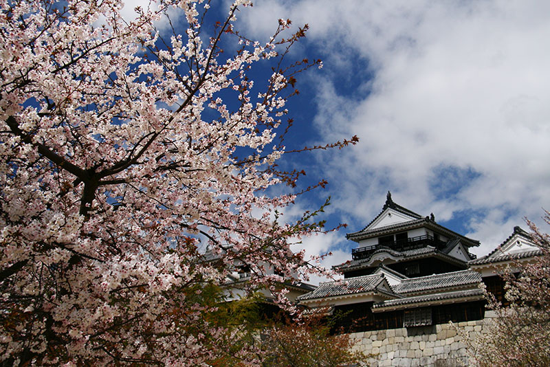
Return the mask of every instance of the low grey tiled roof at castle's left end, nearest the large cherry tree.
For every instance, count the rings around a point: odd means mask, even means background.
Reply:
[[[384,274],[358,276],[333,282],[321,282],[319,287],[312,292],[298,296],[298,300],[313,300],[333,296],[345,296],[348,294],[365,293],[377,290],[376,287],[384,281]]]

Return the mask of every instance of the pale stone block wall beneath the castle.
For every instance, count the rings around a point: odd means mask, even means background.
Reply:
[[[493,315],[484,320],[349,334],[353,349],[374,357],[371,367],[459,367],[468,366],[467,346],[456,328],[473,338],[482,333]],[[456,327],[455,327],[456,326]]]

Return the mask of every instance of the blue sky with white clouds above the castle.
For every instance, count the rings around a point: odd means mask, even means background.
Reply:
[[[297,57],[320,57],[292,113],[304,142],[358,135],[314,155],[330,223],[310,252],[349,260],[360,230],[395,202],[481,241],[483,255],[550,209],[550,2],[254,1],[239,27],[263,39],[276,19],[308,23]],[[307,200],[299,205],[307,207]],[[548,230],[548,229],[547,229]]]

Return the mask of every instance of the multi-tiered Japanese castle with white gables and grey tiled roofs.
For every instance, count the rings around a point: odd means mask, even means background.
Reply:
[[[395,203],[388,192],[382,211],[364,229],[347,234],[358,243],[351,260],[335,268],[343,280],[322,282],[298,302],[340,314],[347,333],[482,320],[485,283],[504,300],[498,276],[515,261],[540,254],[520,227],[487,256],[470,252],[480,243]]]

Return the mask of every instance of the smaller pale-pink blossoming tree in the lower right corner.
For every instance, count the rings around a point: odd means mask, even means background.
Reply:
[[[544,221],[550,224],[549,212]],[[496,318],[469,342],[474,366],[550,365],[550,236],[527,223],[542,254],[532,263],[516,262],[519,274],[503,275],[508,306],[487,294],[488,307]]]

